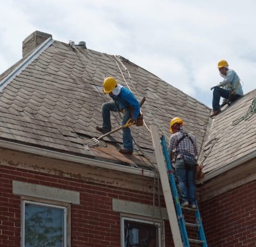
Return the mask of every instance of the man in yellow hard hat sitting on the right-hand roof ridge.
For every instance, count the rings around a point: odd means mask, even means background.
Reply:
[[[220,60],[218,62],[219,74],[224,78],[222,82],[220,82],[216,86],[212,86],[211,90],[213,90],[213,98],[212,98],[212,113],[210,117],[214,117],[217,115],[220,110],[219,100],[220,97],[223,97],[223,103],[229,104],[229,101],[233,101],[238,99],[240,96],[243,96],[243,89],[240,83],[240,78],[238,77],[236,71],[233,69],[229,69],[229,64],[225,60]],[[224,88],[219,88],[220,86],[224,86]]]

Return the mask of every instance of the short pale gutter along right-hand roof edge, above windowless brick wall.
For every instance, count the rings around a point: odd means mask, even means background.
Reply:
[[[197,181],[196,184],[202,184],[207,180],[210,180],[214,177],[217,177],[219,175],[222,175],[223,173],[229,171],[232,168],[236,168],[237,166],[239,166],[240,164],[243,164],[247,161],[250,161],[250,159],[253,159],[256,157],[256,150],[253,150],[252,152],[249,152],[248,154],[235,159],[234,161],[231,161],[230,163],[227,163],[225,166],[222,166],[220,168],[217,168],[213,171],[210,171],[209,173],[207,173],[202,179],[200,179],[200,181]]]

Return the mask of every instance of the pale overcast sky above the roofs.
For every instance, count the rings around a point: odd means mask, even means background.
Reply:
[[[38,30],[121,55],[211,107],[225,59],[255,89],[255,0],[0,0],[0,74]],[[242,83],[242,84],[243,84]]]

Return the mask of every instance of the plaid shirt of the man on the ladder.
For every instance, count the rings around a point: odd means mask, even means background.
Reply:
[[[168,152],[170,155],[170,161],[174,158],[175,152],[172,152],[176,148],[177,141],[181,139],[183,136],[184,130],[179,130],[179,132],[171,135],[170,142],[169,142],[169,148]],[[192,155],[194,158],[196,155],[198,155],[198,148],[197,148],[197,142],[193,135],[188,133],[188,135],[191,137],[193,143],[191,143],[189,137],[185,137],[181,142],[179,142],[177,151],[187,152],[188,154]],[[182,155],[178,154],[177,158],[181,158]]]

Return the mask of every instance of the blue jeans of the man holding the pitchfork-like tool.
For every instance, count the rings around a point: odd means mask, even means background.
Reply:
[[[112,112],[117,112],[117,106],[114,101],[110,101],[107,103],[104,103],[101,107],[102,110],[102,129],[106,130],[107,132],[111,131],[112,126],[110,122],[110,111]],[[121,121],[121,126],[125,125],[127,120],[131,118],[131,110],[126,109],[123,113],[122,121]],[[123,128],[123,148],[128,149],[128,150],[133,150],[133,137],[132,134],[130,133],[130,128],[126,127]]]

